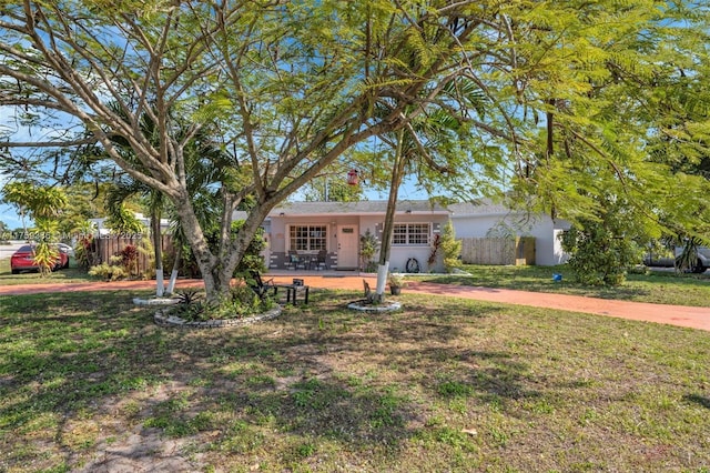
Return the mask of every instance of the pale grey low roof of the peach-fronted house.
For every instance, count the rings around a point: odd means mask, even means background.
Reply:
[[[272,210],[268,215],[318,215],[318,214],[383,214],[387,211],[387,201],[366,200],[359,202],[285,202]],[[399,200],[397,213],[448,214],[448,210],[428,200]]]

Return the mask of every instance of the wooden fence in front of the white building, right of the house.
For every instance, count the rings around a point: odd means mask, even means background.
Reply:
[[[535,264],[535,238],[464,238],[462,261],[466,264]]]

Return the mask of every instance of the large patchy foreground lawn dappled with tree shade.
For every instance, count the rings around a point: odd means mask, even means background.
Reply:
[[[325,291],[187,331],[146,294],[0,296],[0,471],[710,471],[707,332]]]

